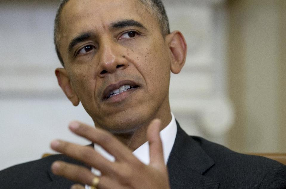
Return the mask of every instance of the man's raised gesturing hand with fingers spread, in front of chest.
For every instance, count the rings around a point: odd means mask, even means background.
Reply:
[[[101,171],[98,189],[101,188],[156,188],[168,189],[168,171],[164,163],[163,147],[160,139],[160,120],[153,120],[147,130],[149,141],[150,164],[145,165],[138,160],[123,143],[112,134],[102,130],[74,122],[69,126],[75,134],[82,136],[102,146],[109,154],[115,157],[115,162],[102,157],[89,146],[81,146],[55,140],[51,148],[78,159],[90,167]],[[95,175],[88,168],[56,161],[52,164],[52,172],[77,183],[92,185]],[[73,188],[84,188],[74,185]]]

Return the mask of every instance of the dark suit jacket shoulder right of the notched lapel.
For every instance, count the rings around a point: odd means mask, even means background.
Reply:
[[[201,137],[192,137],[215,164],[205,175],[216,177],[221,184],[250,185],[251,188],[286,187],[286,166],[261,156],[234,152]],[[227,186],[226,188],[231,187]]]

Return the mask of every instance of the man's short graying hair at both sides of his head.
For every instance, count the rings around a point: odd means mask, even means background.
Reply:
[[[55,43],[55,49],[58,55],[58,59],[60,60],[62,66],[64,66],[64,61],[61,57],[61,54],[59,52],[59,46],[58,46],[58,42],[59,42],[59,33],[61,31],[61,22],[60,22],[60,17],[61,17],[61,12],[64,8],[64,5],[67,4],[69,0],[62,0],[61,4],[58,8],[56,17],[55,17],[55,26],[54,26],[54,43]],[[147,10],[149,10],[149,12],[156,16],[157,21],[160,25],[160,29],[162,31],[162,35],[166,36],[168,33],[170,33],[170,27],[169,27],[169,21],[168,21],[168,17],[166,14],[166,10],[165,7],[162,3],[161,0],[137,0],[140,1],[143,5],[145,5],[145,7],[147,8]]]

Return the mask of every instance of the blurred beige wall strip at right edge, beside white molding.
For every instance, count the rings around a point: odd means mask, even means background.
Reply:
[[[286,152],[285,1],[230,0],[229,94],[236,121],[229,147]]]

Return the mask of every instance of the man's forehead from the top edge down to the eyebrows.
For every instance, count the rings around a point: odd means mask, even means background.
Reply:
[[[67,48],[72,38],[84,32],[99,37],[112,23],[127,19],[141,23],[149,32],[160,32],[157,19],[139,0],[70,0],[61,12],[58,47]]]

